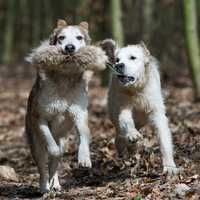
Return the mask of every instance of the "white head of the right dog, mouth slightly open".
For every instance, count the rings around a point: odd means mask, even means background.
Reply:
[[[150,53],[142,42],[138,45],[129,45],[116,50],[115,70],[119,82],[123,86],[136,86],[144,77],[146,66],[150,60]]]

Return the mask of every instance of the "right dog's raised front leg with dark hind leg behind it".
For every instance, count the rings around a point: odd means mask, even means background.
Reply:
[[[132,118],[132,109],[122,109],[118,116],[117,135],[115,140],[119,156],[122,156],[125,147],[129,146],[128,144],[135,142],[141,137],[142,135],[135,128],[135,123]]]

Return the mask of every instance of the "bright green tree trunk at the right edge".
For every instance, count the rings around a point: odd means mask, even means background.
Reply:
[[[190,70],[196,99],[200,99],[200,50],[197,29],[196,0],[184,0],[185,33]]]

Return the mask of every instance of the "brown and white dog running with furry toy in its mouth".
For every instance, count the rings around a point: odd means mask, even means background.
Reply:
[[[40,173],[42,193],[61,188],[57,167],[64,152],[66,132],[73,126],[80,141],[78,163],[83,167],[92,166],[84,72],[87,69],[105,69],[107,56],[101,48],[89,44],[87,22],[71,26],[58,20],[50,39],[27,58],[33,65],[40,63],[28,99],[26,132]],[[69,56],[72,60],[67,63]]]

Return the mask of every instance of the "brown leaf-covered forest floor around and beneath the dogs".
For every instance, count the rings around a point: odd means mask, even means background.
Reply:
[[[20,73],[20,72],[19,72]],[[3,73],[2,73],[3,74]],[[199,199],[200,103],[192,101],[187,76],[163,84],[173,134],[175,160],[181,173],[162,174],[156,135],[150,126],[133,155],[117,158],[115,130],[106,112],[105,88],[95,79],[89,92],[92,169],[77,165],[77,141],[72,131],[59,167],[62,191],[41,197],[38,173],[24,134],[24,116],[32,80],[29,76],[0,77],[0,166],[16,174],[0,175],[0,199]],[[14,172],[13,172],[14,173]]]

